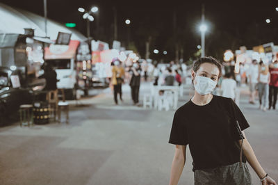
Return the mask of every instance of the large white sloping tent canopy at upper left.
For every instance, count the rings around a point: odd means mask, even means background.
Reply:
[[[0,3],[0,33],[24,34],[24,29],[35,29],[35,36],[44,37],[44,17]],[[63,24],[47,19],[47,36],[56,40],[58,32],[72,33],[72,40],[83,41],[85,36]]]

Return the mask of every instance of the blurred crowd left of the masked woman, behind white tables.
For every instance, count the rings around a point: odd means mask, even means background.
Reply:
[[[139,104],[139,90],[141,81],[149,81],[153,86],[181,86],[186,82],[187,66],[185,63],[181,65],[171,61],[170,64],[165,63],[147,63],[142,61],[124,66],[120,61],[111,63],[112,77],[111,89],[113,89],[115,104],[118,104],[117,97],[120,95],[122,99],[122,84],[129,83],[131,87],[131,98],[134,105]]]

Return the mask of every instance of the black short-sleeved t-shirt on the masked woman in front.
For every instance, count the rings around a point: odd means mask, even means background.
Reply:
[[[204,106],[190,100],[174,114],[169,143],[189,145],[193,171],[231,165],[240,159],[235,145],[240,140],[235,120],[241,130],[250,127],[230,98],[213,95]]]

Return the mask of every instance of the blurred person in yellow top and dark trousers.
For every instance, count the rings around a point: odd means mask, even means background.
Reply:
[[[112,67],[112,84],[114,88],[114,101],[117,102],[117,95],[120,94],[120,99],[122,100],[122,83],[124,83],[124,67],[122,67],[119,61],[111,63]]]

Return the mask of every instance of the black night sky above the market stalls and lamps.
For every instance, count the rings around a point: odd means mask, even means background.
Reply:
[[[22,8],[43,15],[43,0],[15,1],[0,0],[9,6]],[[206,34],[206,55],[222,59],[226,49],[247,49],[267,42],[278,45],[278,1],[65,1],[48,0],[49,19],[57,22],[76,23],[76,29],[86,35],[83,7],[99,8],[95,21],[91,24],[91,35],[97,40],[113,42],[113,7],[117,10],[118,40],[126,44],[127,26],[125,19],[131,19],[131,42],[139,54],[145,56],[145,42],[151,36],[150,50],[167,50],[167,56],[151,54],[151,58],[164,61],[174,59],[175,45],[183,48],[183,58],[194,58],[200,33],[197,26],[201,20],[202,3],[205,5],[206,21],[209,31]],[[174,27],[174,13],[177,26]],[[265,19],[271,19],[266,24]]]

